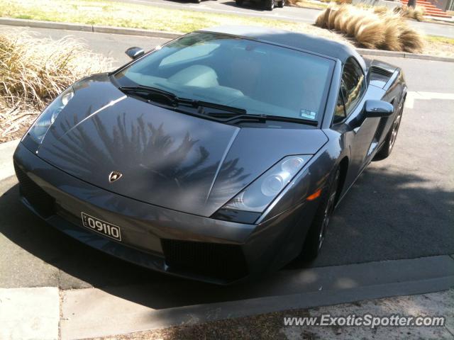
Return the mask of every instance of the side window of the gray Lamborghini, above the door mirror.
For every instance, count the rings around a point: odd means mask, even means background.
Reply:
[[[358,62],[350,58],[345,62],[342,72],[342,83],[345,89],[344,104],[347,115],[355,109],[365,92],[365,79]]]

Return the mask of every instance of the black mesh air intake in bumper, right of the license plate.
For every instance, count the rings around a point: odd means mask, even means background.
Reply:
[[[235,244],[162,239],[165,263],[172,271],[191,271],[203,276],[237,279],[248,274],[243,251]]]

